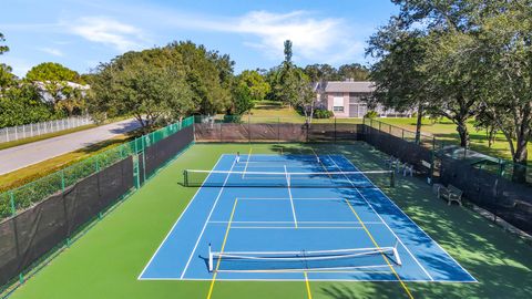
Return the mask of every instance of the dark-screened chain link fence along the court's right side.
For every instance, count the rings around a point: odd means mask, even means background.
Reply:
[[[415,166],[432,183],[453,185],[469,203],[504,221],[532,234],[532,176],[526,165],[491,157],[448,141],[416,133],[376,120],[364,121],[364,141],[388,155]],[[515,181],[514,173],[525,179]]]

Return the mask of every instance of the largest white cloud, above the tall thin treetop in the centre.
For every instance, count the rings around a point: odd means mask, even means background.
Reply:
[[[248,37],[244,45],[258,49],[270,59],[283,56],[285,40],[293,41],[296,60],[338,63],[364,56],[364,41],[355,33],[366,29],[354,28],[341,18],[317,18],[307,11],[250,11],[238,18],[225,19],[205,16],[166,19],[181,28],[242,33]]]

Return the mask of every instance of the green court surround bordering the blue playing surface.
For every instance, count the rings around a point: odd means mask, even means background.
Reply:
[[[222,154],[339,154],[361,171],[383,169],[365,143],[196,144],[60,254],[10,298],[206,298],[209,281],[137,280],[197,188],[185,168],[211,169]],[[530,298],[532,248],[473,212],[438,200],[420,178],[387,195],[479,282],[409,282],[415,298]],[[398,282],[217,281],[212,298],[407,298]]]

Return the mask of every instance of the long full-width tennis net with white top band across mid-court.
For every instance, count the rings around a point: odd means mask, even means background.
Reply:
[[[185,169],[187,187],[375,188],[395,187],[392,171],[372,172],[236,172]]]

